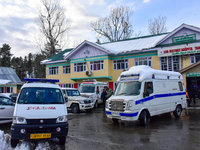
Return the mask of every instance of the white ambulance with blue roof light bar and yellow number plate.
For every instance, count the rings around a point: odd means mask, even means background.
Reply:
[[[67,107],[54,79],[28,79],[20,90],[13,113],[11,146],[19,140],[58,138],[64,145],[68,134]],[[53,83],[46,83],[53,82]]]

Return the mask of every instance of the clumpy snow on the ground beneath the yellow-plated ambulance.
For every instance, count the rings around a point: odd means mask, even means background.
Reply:
[[[11,136],[9,134],[4,134],[4,131],[0,130],[0,150],[50,150],[50,149],[61,149],[56,142],[58,140],[54,140],[53,142],[48,141],[39,141],[39,142],[28,142],[28,141],[20,141],[15,148],[11,147],[10,144]],[[49,144],[51,143],[51,144]]]

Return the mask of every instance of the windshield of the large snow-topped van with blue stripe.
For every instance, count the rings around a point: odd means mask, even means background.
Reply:
[[[140,94],[140,89],[141,89],[141,82],[138,81],[119,82],[114,95],[136,96]]]

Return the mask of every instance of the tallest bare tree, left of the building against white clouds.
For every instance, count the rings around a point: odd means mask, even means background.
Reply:
[[[65,36],[70,29],[71,20],[66,18],[65,9],[61,7],[60,0],[40,0],[38,8],[39,28],[41,31],[38,47],[42,54],[51,57],[59,53],[66,43]]]

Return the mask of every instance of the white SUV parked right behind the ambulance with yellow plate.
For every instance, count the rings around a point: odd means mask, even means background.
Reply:
[[[67,108],[71,109],[73,113],[79,112],[79,110],[85,110],[86,112],[92,111],[94,104],[91,99],[85,96],[81,96],[76,88],[62,88],[63,95],[68,99],[66,102]]]

